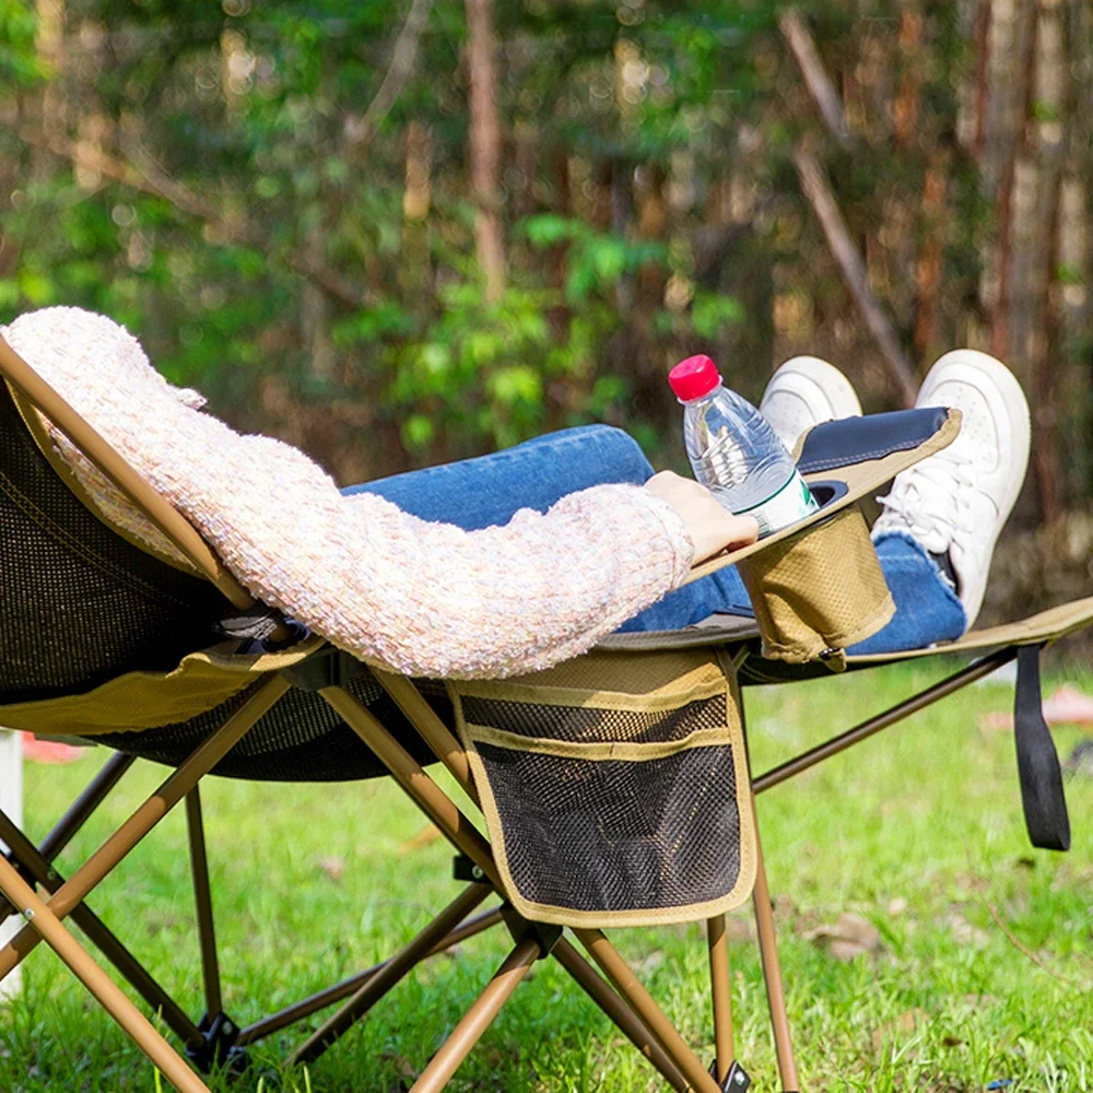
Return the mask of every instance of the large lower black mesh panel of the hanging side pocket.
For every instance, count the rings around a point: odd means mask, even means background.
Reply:
[[[529,903],[578,912],[686,907],[740,872],[728,747],[590,762],[479,744],[508,869]]]

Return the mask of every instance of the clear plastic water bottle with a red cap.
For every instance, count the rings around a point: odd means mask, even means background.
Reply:
[[[730,512],[754,516],[772,534],[820,506],[767,420],[721,383],[708,356],[668,374],[683,403],[683,440],[694,477]]]

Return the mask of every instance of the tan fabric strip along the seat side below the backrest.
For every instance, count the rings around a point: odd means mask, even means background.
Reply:
[[[215,709],[270,672],[298,663],[325,644],[318,635],[282,653],[239,656],[225,642],[184,657],[169,672],[130,672],[84,694],[0,706],[0,722],[26,732],[94,737],[140,732]]]

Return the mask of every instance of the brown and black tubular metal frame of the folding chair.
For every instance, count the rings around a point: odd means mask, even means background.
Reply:
[[[237,608],[254,606],[250,595],[227,573],[196,529],[137,474],[2,339],[0,376],[61,428],[184,552],[197,571],[220,588],[232,604]],[[1018,647],[1011,645],[983,656],[942,682],[759,775],[751,786],[752,807],[754,808],[754,799],[759,794],[982,679],[1012,660],[1016,650]],[[736,666],[739,666],[748,653],[745,648],[736,653]],[[589,963],[559,927],[525,921],[506,905],[474,914],[492,892],[498,893],[504,900],[491,846],[479,828],[384,724],[346,690],[345,683],[355,672],[363,670],[365,669],[346,654],[324,646],[295,667],[265,678],[245,704],[179,764],[68,879],[56,871],[54,860],[113,791],[133,762],[131,757],[120,754],[113,756],[40,846],[35,846],[8,816],[0,813],[0,839],[10,848],[7,857],[0,856],[0,894],[7,898],[14,913],[22,915],[26,921],[15,938],[0,948],[0,979],[20,964],[39,941],[45,941],[176,1089],[181,1093],[208,1093],[208,1088],[198,1074],[73,938],[63,924],[64,918],[71,917],[80,926],[138,995],[154,1012],[161,1014],[164,1023],[183,1042],[191,1059],[203,1067],[223,1060],[224,1051],[220,1051],[220,1048],[243,1048],[262,1036],[341,1002],[339,1009],[295,1049],[290,1059],[294,1063],[310,1062],[369,1012],[422,960],[503,922],[513,936],[512,950],[478,1000],[421,1073],[413,1086],[415,1093],[433,1093],[445,1086],[534,962],[545,956],[559,961],[672,1089],[700,1093],[747,1089],[750,1079],[737,1061],[733,1049],[725,916],[715,916],[705,924],[716,1045],[716,1058],[707,1068],[603,931],[571,931],[590,957]],[[413,681],[375,668],[368,670],[410,720],[436,759],[444,764],[456,784],[477,804],[475,787],[462,745]],[[439,915],[388,961],[279,1013],[238,1029],[223,1014],[222,1009],[198,784],[293,685],[317,691],[376,754],[403,791],[457,850],[459,860],[467,866],[465,875],[468,883]],[[743,706],[741,701],[741,716]],[[94,888],[184,799],[207,1007],[205,1018],[201,1023],[195,1023],[186,1015],[181,1007],[85,904]],[[785,1093],[796,1093],[800,1085],[786,1011],[773,906],[759,839],[756,816],[757,872],[753,892],[756,932],[780,1085]],[[40,895],[35,891],[36,888],[40,889]]]

